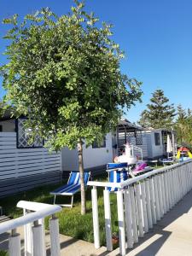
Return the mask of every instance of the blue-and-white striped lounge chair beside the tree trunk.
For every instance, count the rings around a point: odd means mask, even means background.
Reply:
[[[84,186],[87,185],[90,179],[90,172],[84,172]],[[72,201],[70,205],[60,205],[61,207],[73,207],[73,196],[74,194],[80,191],[80,173],[79,172],[71,172],[68,178],[68,182],[66,185],[63,185],[59,189],[55,189],[50,192],[50,195],[54,195],[54,204],[56,200],[56,195],[68,195],[72,196]]]

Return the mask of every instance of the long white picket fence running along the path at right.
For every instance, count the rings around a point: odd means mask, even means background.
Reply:
[[[97,189],[103,187],[105,231],[108,251],[113,250],[108,187],[118,188],[117,211],[119,223],[119,251],[125,255],[139,237],[148,233],[172,207],[192,189],[192,161],[166,166],[130,178],[122,183],[89,182],[93,186],[92,215],[95,247],[100,247]]]

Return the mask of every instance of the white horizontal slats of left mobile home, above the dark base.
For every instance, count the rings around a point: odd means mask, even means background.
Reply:
[[[46,148],[16,148],[15,132],[0,132],[0,180],[61,171],[61,154]]]

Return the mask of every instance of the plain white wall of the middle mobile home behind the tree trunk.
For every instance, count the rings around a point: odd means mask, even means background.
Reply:
[[[84,145],[84,169],[96,166],[106,165],[113,160],[112,134],[106,136],[106,148],[86,148]],[[78,170],[78,150],[69,150],[63,148],[61,150],[62,170],[71,171]]]

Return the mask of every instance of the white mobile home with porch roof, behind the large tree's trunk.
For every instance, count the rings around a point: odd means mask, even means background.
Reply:
[[[122,154],[125,143],[129,142],[135,148],[134,154],[141,157],[141,149],[143,158],[147,158],[147,140],[143,138],[143,129],[137,125],[131,124],[128,120],[121,120],[115,132],[109,132],[103,140],[102,145],[93,143],[86,148],[84,144],[84,169],[90,170],[91,174],[99,174],[105,172],[108,162],[112,162],[116,155]],[[63,172],[69,172],[79,169],[78,150],[69,150],[63,148],[61,150],[61,162]]]

